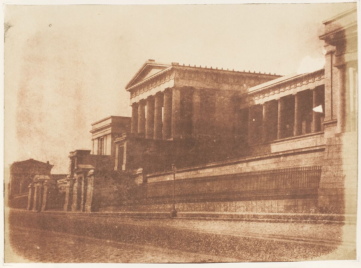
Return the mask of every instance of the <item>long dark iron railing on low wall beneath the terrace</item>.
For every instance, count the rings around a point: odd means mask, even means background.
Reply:
[[[287,195],[292,198],[293,195],[298,198],[309,198],[310,195],[317,194],[320,178],[321,166],[309,166],[176,179],[175,197],[224,199],[227,196],[237,196],[241,199],[266,200],[278,199],[277,196],[283,199]],[[138,200],[171,198],[172,175],[169,181],[145,183],[135,189],[135,199]]]

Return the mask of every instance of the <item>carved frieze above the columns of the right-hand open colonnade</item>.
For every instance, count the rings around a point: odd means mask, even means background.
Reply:
[[[261,92],[257,92],[253,94],[251,92],[250,94],[253,95],[252,100],[255,101],[270,95],[277,94],[279,92],[284,92],[302,85],[306,85],[308,83],[313,83],[315,81],[322,80],[324,77],[325,77],[325,70],[320,70],[318,72],[304,75],[303,77],[297,78],[293,81],[287,81],[280,85],[276,85],[270,88],[265,88],[265,90],[262,90]]]

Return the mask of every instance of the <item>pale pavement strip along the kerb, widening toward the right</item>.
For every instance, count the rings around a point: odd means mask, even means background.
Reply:
[[[52,215],[46,212],[45,215]],[[77,219],[106,220],[114,224],[150,225],[163,226],[164,228],[176,228],[207,232],[222,235],[233,235],[239,237],[256,237],[277,241],[293,241],[309,243],[313,245],[356,245],[356,224],[323,224],[323,223],[293,223],[293,222],[260,222],[260,221],[225,221],[225,220],[195,220],[190,218],[142,218],[127,217],[106,214],[66,213],[65,217]]]

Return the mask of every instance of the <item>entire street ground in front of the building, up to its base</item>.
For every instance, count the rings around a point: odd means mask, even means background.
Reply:
[[[12,217],[9,226],[11,248],[19,250],[15,246],[19,244],[20,249],[23,248],[18,251],[19,255],[37,262],[188,263],[356,258],[355,224],[152,219],[26,211],[16,211]],[[29,231],[29,226],[35,229]],[[37,238],[39,232],[43,240]],[[53,233],[48,235],[48,232]],[[71,247],[66,242],[75,238],[62,241],[64,237],[74,235],[81,237],[76,240],[79,247]],[[46,237],[56,239],[46,242]],[[103,252],[108,258],[102,259],[94,252],[82,254],[89,250],[84,246],[90,245],[87,239],[93,239],[96,252]],[[35,244],[42,250],[29,246]],[[74,254],[64,249],[69,247],[73,248]],[[110,253],[114,251],[113,247],[117,248],[116,257]],[[46,248],[53,248],[56,256],[63,256],[63,259],[49,255]]]

